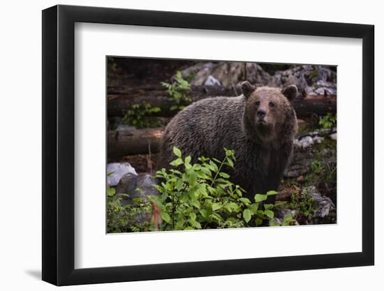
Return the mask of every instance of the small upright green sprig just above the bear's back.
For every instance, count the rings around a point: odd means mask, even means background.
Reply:
[[[189,91],[191,91],[191,85],[188,80],[184,80],[179,70],[172,84],[161,82],[161,85],[167,89],[170,96],[169,100],[174,104],[170,107],[170,110],[182,110],[187,104],[191,103],[191,98],[188,95]]]

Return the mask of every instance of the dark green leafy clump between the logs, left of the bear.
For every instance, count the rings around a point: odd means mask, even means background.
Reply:
[[[160,111],[159,107],[152,107],[149,103],[133,104],[124,114],[123,123],[135,128],[155,128],[162,125],[161,120],[153,116]]]

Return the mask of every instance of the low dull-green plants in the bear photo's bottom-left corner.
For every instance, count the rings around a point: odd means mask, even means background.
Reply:
[[[153,223],[147,219],[152,210],[151,202],[137,197],[133,199],[133,205],[123,205],[123,197],[129,196],[116,193],[113,187],[107,187],[107,232],[140,232],[153,229]]]

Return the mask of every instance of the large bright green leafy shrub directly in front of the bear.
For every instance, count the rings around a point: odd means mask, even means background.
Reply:
[[[161,230],[257,226],[274,217],[274,204],[262,207],[260,202],[276,191],[256,194],[255,202],[243,197],[245,191],[232,184],[230,174],[224,171],[233,168],[235,152],[224,150],[223,161],[200,157],[198,163],[191,164],[191,156],[183,158],[182,152],[173,148],[173,168],[156,172],[161,183],[154,187],[161,195],[151,197],[161,211]]]

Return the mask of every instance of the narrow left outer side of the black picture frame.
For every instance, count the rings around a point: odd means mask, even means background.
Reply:
[[[42,278],[57,284],[57,6],[42,17]]]

